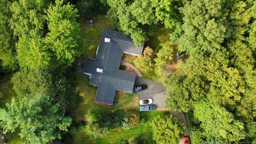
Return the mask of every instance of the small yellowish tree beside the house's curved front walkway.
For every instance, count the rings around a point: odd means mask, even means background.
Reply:
[[[143,55],[140,55],[134,60],[136,68],[140,69],[142,73],[149,73],[153,70],[153,50],[150,47],[146,47]]]

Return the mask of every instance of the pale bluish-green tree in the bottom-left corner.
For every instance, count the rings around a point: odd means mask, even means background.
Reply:
[[[58,131],[67,131],[71,123],[71,118],[58,113],[59,103],[53,105],[44,94],[37,94],[33,99],[22,98],[19,103],[13,99],[6,106],[7,109],[0,109],[1,127],[5,132],[19,127],[19,135],[27,143],[53,140],[59,137]]]

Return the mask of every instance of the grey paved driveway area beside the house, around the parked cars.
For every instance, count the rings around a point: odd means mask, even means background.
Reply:
[[[156,109],[164,109],[165,108],[165,100],[167,99],[167,91],[166,87],[164,87],[161,83],[157,83],[154,81],[150,81],[149,79],[136,77],[135,86],[145,84],[148,86],[146,90],[136,92],[139,95],[140,99],[153,99],[153,105],[155,105]]]

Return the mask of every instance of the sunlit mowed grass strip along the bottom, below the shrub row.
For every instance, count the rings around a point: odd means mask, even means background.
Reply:
[[[124,130],[122,128],[111,130],[108,134],[106,134],[102,138],[91,139],[84,132],[79,132],[73,134],[74,143],[116,143],[119,140],[129,140],[132,138],[139,137],[139,143],[156,143],[152,138],[152,132],[150,123],[154,117],[160,115],[164,116],[169,114],[168,111],[147,111],[143,112],[146,115],[146,122],[144,124],[140,124],[138,126],[132,127],[129,130]]]

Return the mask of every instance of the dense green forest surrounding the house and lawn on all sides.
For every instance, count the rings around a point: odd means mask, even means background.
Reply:
[[[166,108],[189,115],[191,142],[256,143],[253,0],[0,0],[0,76],[13,73],[17,95],[0,109],[5,133],[19,130],[26,143],[72,143],[69,131],[97,138],[113,127],[143,123],[136,111],[90,109],[88,123],[72,115],[82,101],[74,63],[87,49],[78,19],[95,13],[107,14],[137,46],[165,28],[170,43],[157,50],[145,45],[134,65],[167,87]],[[167,73],[177,55],[177,70]],[[150,126],[157,143],[182,137],[173,116],[155,117]],[[159,134],[166,129],[177,133]]]

